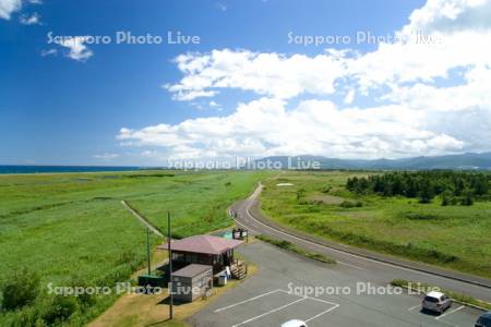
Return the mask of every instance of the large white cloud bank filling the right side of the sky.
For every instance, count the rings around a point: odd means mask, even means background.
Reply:
[[[491,1],[429,0],[397,32],[408,39],[415,33],[438,41],[314,57],[231,49],[180,55],[175,62],[183,77],[165,85],[173,99],[230,89],[256,99],[228,116],[122,128],[117,138],[157,148],[161,158],[491,150]]]

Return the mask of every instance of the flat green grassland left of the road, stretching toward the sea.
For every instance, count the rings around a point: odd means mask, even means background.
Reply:
[[[173,234],[184,237],[230,226],[226,208],[246,197],[267,174],[141,171],[0,175],[0,286],[27,271],[37,275],[41,287],[32,304],[3,310],[0,326],[80,326],[116,300],[116,295],[100,295],[68,303],[47,295],[46,286],[113,286],[144,265],[146,230],[122,207],[121,199],[163,229],[170,210]],[[161,241],[152,238],[153,244]],[[57,318],[60,316],[64,320]]]

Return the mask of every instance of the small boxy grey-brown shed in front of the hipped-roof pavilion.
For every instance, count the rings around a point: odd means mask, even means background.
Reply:
[[[191,264],[172,274],[173,299],[192,302],[213,288],[213,267]]]

